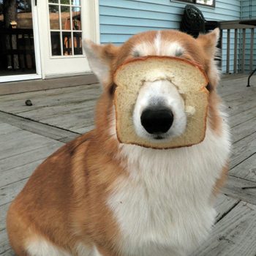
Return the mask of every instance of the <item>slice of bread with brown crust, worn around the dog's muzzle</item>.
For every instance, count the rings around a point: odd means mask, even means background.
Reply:
[[[184,99],[187,110],[185,132],[170,141],[152,142],[140,138],[133,124],[133,110],[145,81],[169,80]],[[121,143],[150,148],[178,148],[203,141],[206,135],[208,110],[208,78],[197,64],[186,59],[168,56],[146,56],[125,62],[114,74],[116,83],[116,133]]]

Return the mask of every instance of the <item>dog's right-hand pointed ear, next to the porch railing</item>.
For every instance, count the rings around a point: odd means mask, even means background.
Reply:
[[[217,45],[219,42],[219,29],[214,29],[208,34],[200,34],[197,42],[202,46],[206,54],[213,59],[217,54]]]

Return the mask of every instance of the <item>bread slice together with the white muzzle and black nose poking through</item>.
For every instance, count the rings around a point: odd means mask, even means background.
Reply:
[[[116,132],[121,143],[178,148],[206,135],[208,79],[191,61],[146,56],[121,65],[116,83]]]

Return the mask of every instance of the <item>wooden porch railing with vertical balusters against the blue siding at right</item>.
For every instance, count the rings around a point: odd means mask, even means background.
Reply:
[[[222,40],[222,72],[252,72],[254,68],[256,26],[240,23],[241,20],[220,22]]]

